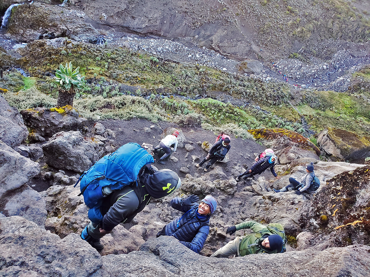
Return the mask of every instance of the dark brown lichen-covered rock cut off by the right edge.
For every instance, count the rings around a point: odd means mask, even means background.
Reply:
[[[332,244],[370,243],[370,166],[346,171],[326,181],[327,185],[300,209],[300,222],[310,232],[330,234]]]

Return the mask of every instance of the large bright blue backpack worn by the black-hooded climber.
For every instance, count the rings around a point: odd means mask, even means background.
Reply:
[[[74,187],[80,182],[81,193],[86,206],[90,208],[89,219],[100,223],[103,216],[100,206],[104,198],[103,187],[121,189],[136,181],[141,168],[154,163],[154,158],[137,143],[127,143],[115,152],[105,155],[81,175]]]

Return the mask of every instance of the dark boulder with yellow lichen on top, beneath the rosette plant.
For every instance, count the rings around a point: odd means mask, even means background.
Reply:
[[[51,137],[60,131],[81,130],[87,124],[87,119],[71,106],[28,109],[22,110],[21,114],[27,126],[41,136]]]

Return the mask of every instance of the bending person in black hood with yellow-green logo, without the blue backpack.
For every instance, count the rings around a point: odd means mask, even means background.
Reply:
[[[138,186],[135,183],[128,185],[104,198],[100,209],[104,215],[103,220],[90,222],[82,231],[81,238],[95,249],[103,249],[101,237],[110,233],[118,224],[131,222],[149,204],[151,198],[164,198],[180,187],[181,179],[174,171],[152,168],[154,173],[145,170],[139,175]]]

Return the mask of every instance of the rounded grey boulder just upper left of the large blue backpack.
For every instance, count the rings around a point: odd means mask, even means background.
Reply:
[[[80,131],[56,133],[43,145],[46,163],[58,169],[84,172],[105,155],[105,145],[100,138],[84,137]]]

